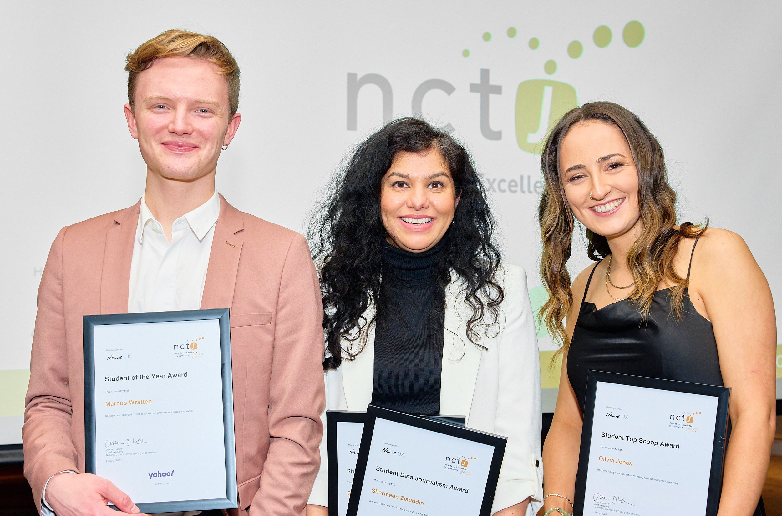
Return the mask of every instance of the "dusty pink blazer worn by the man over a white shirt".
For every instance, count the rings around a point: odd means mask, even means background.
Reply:
[[[325,406],[317,274],[301,235],[220,201],[201,307],[231,309],[233,514],[303,514]],[[50,476],[84,471],[81,316],[127,313],[140,205],[63,228],[49,252],[22,429],[24,475],[38,504]]]

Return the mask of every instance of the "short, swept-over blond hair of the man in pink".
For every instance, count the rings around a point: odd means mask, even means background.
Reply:
[[[127,102],[135,109],[135,88],[138,74],[152,66],[155,59],[163,57],[192,57],[206,59],[220,69],[228,84],[228,103],[231,116],[239,109],[239,65],[228,48],[214,36],[198,34],[189,30],[166,30],[155,38],[145,41],[127,55],[125,71],[127,76]]]

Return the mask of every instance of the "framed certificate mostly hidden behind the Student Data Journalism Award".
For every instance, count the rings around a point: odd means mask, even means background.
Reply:
[[[465,427],[461,416],[421,416],[449,425]],[[326,410],[326,445],[328,450],[328,514],[345,516],[350,492],[353,489],[353,475],[361,447],[366,412]]]

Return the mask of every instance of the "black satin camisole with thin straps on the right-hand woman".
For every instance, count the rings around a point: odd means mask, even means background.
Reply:
[[[690,279],[695,245],[698,245],[697,238],[687,267],[687,279]],[[594,303],[586,301],[597,265],[584,288],[568,350],[568,378],[582,412],[590,369],[723,385],[712,323],[692,306],[689,292],[684,292],[679,320],[671,311],[669,288],[655,292],[647,321],[641,319],[640,312],[629,299],[597,310]],[[765,514],[761,499],[755,516]]]

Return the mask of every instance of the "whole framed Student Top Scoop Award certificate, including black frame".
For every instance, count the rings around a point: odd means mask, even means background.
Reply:
[[[574,516],[717,514],[730,389],[589,371]]]

